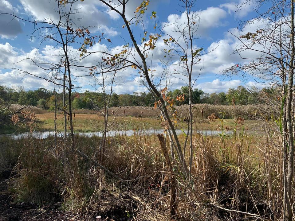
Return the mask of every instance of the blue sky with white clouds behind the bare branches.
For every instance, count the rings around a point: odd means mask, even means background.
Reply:
[[[235,7],[243,0],[199,0],[193,8],[194,12],[200,17],[198,26],[198,40],[195,44],[199,48],[204,48],[204,55],[201,56],[200,65],[194,69],[195,77],[199,76],[194,84],[194,88],[203,90],[206,93],[226,92],[229,88],[235,88],[239,85],[249,86],[254,84],[254,79],[248,82],[243,81],[238,76],[224,78],[221,75],[222,70],[235,64],[246,62],[239,55],[232,54],[239,40],[230,33],[241,35],[247,33],[253,27],[240,28],[242,20],[253,17],[254,3],[248,4],[241,10]],[[130,4],[129,4],[130,3]],[[141,0],[130,0],[126,9],[127,17],[134,15],[134,11]],[[175,21],[185,19],[183,9],[179,7],[178,0],[150,0],[148,10],[145,13],[145,29],[153,31],[155,22],[159,28],[163,28],[165,33],[173,33],[171,25]],[[54,0],[0,0],[0,13],[11,13],[25,19],[42,20],[44,18],[56,19],[56,2]],[[104,36],[111,39],[111,43],[102,41],[95,44],[91,50],[107,50],[108,47],[122,48],[128,42],[128,32],[122,28],[122,19],[114,12],[109,12],[98,0],[85,0],[77,2],[79,12],[83,14],[77,21],[78,25],[88,26],[97,25],[90,29],[92,34],[104,33]],[[155,11],[156,19],[150,19],[151,12]],[[53,41],[46,41],[40,44],[37,37],[31,38],[33,32],[32,24],[12,19],[9,15],[0,14],[0,85],[7,87],[22,86],[25,90],[34,90],[39,87],[45,87],[53,90],[53,85],[46,80],[38,79],[33,76],[20,74],[20,71],[11,68],[18,68],[27,72],[44,76],[40,68],[35,67],[26,58],[32,58],[40,62],[56,59],[58,48]],[[255,27],[257,28],[257,27]],[[139,39],[142,37],[143,25],[134,26],[132,29]],[[160,39],[153,51],[153,61],[151,68],[156,69],[155,76],[160,76],[161,64],[157,59],[163,58],[163,44]],[[95,54],[87,58],[84,62],[95,64],[100,55]],[[150,55],[149,55],[150,56]],[[24,60],[25,59],[25,60]],[[172,68],[172,67],[171,67]],[[77,76],[79,73],[77,73]],[[128,68],[120,73],[120,79],[114,86],[117,94],[148,91],[140,83],[140,74],[138,71]],[[185,86],[181,77],[169,79],[169,89]],[[95,90],[93,79],[91,77],[79,77],[74,79],[75,87],[80,87],[79,91]]]

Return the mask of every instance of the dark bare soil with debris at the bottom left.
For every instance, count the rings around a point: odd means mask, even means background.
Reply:
[[[28,202],[14,203],[7,189],[6,180],[9,176],[10,171],[6,171],[0,177],[0,221],[128,221],[131,218],[126,210],[130,210],[132,214],[132,210],[136,207],[134,200],[128,195],[116,197],[107,191],[102,191],[100,201],[95,208],[76,214],[62,211],[58,204],[39,207]]]

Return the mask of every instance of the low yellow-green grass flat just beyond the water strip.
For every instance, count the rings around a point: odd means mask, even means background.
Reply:
[[[54,114],[45,113],[45,114],[36,114],[37,118],[40,119],[44,124],[41,124],[39,130],[54,130]],[[144,118],[144,117],[109,117],[110,125],[112,130],[132,130],[138,128],[145,129],[163,129],[161,126],[161,120],[157,118]],[[203,122],[203,123],[202,123]],[[57,114],[57,129],[62,131],[64,128],[63,114]],[[74,130],[80,132],[97,132],[103,129],[104,118],[96,114],[75,114],[74,117]],[[221,122],[218,119],[210,121],[205,118],[196,118],[195,127],[197,129],[203,126],[204,130],[220,130]],[[233,130],[235,127],[234,119],[225,119],[223,120],[223,127],[228,130]],[[262,121],[259,120],[245,120],[244,127],[249,132],[258,130],[262,128]],[[187,123],[183,120],[179,120],[177,124],[177,129],[187,129]]]

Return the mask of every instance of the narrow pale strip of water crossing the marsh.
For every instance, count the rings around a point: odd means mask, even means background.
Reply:
[[[109,131],[107,134],[110,137],[114,137],[114,136],[133,136],[134,134],[141,134],[141,135],[148,135],[148,134],[161,134],[163,133],[164,130],[163,129],[148,129],[148,130],[139,130],[139,131],[134,131],[134,130],[112,130]],[[200,133],[198,131],[198,133]],[[203,130],[203,135],[206,136],[218,136],[218,134],[220,134],[221,131],[217,131],[217,130]],[[85,136],[85,137],[92,137],[92,136],[98,136],[98,137],[102,137],[103,133],[101,132],[77,132],[75,134],[79,134],[80,136]],[[176,134],[183,134],[182,130],[176,130]],[[229,135],[229,134],[233,134],[233,131],[226,131],[225,134]],[[20,139],[20,138],[26,138],[29,135],[35,137],[35,138],[48,138],[49,136],[54,136],[54,131],[42,131],[42,132],[33,132],[33,133],[22,133],[22,134],[7,134],[5,136],[9,136],[12,137],[14,139]],[[59,137],[63,137],[63,133],[62,132],[58,132],[57,136]],[[69,134],[68,134],[69,136]]]

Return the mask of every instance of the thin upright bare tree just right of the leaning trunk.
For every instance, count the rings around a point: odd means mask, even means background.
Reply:
[[[186,21],[175,21],[172,24],[171,31],[172,34],[165,33],[168,36],[164,39],[164,44],[168,48],[164,48],[168,56],[167,63],[172,70],[170,75],[172,77],[183,80],[188,87],[188,118],[184,119],[187,122],[187,136],[183,145],[183,158],[185,157],[185,150],[187,140],[189,138],[190,142],[190,160],[189,160],[189,175],[191,179],[191,169],[192,169],[192,159],[193,159],[193,113],[192,113],[192,90],[196,80],[200,75],[201,68],[196,71],[197,65],[200,64],[200,56],[203,48],[196,47],[196,40],[199,39],[198,27],[200,22],[199,14],[193,11],[196,5],[195,0],[179,0],[180,6],[185,14]],[[169,27],[167,27],[169,28]],[[165,56],[166,57],[166,56]],[[175,62],[175,60],[177,62]],[[174,70],[174,71],[173,71]],[[181,96],[177,99],[181,99]]]

